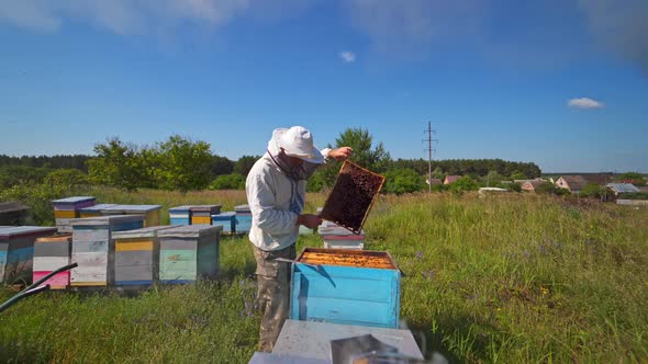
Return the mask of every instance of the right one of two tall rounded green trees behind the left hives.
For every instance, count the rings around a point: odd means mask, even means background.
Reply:
[[[159,187],[182,192],[203,190],[211,182],[210,144],[174,135],[157,144],[154,175]]]

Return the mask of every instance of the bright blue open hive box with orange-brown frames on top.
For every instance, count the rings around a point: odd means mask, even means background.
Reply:
[[[293,320],[399,327],[401,272],[388,252],[305,248],[291,285]]]

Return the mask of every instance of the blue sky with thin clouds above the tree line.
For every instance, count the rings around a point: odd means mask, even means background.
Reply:
[[[648,172],[645,0],[0,0],[0,153],[303,125],[393,158]]]

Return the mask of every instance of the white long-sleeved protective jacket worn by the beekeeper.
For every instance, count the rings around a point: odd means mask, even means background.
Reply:
[[[325,148],[321,152],[327,156],[329,150]],[[295,193],[305,201],[306,181],[289,179],[266,152],[247,174],[245,192],[252,212],[249,241],[265,251],[281,250],[294,243],[299,235],[298,214],[289,207]]]

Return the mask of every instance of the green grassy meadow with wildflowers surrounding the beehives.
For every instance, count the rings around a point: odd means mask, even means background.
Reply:
[[[243,192],[103,193],[94,195],[165,208],[245,203]],[[312,212],[325,196],[308,198]],[[402,326],[426,357],[639,363],[648,361],[646,220],[648,209],[527,194],[381,196],[366,249],[389,251],[403,270]],[[321,244],[302,236],[298,251]],[[246,238],[224,238],[221,255],[217,282],[26,298],[0,316],[0,357],[246,363],[259,326],[254,258]],[[0,299],[11,294],[0,289]]]

